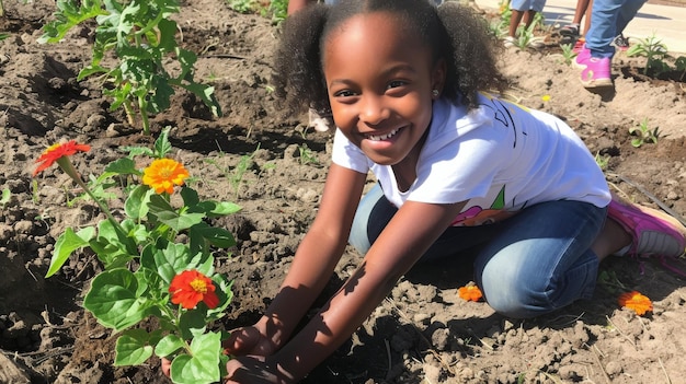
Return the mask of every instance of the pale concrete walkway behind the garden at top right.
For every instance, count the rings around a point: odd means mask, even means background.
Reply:
[[[481,9],[498,9],[500,0],[476,0]],[[546,23],[567,25],[574,18],[575,0],[547,0]],[[583,21],[582,21],[583,24]],[[630,42],[655,35],[675,56],[686,55],[686,8],[645,3],[624,32]]]

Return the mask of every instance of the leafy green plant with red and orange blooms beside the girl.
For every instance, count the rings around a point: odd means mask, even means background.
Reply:
[[[194,189],[184,186],[190,173],[167,158],[171,151],[168,135],[169,128],[152,150],[126,148],[128,155],[108,164],[96,178],[123,182],[122,218],[91,190],[70,161],[69,156],[90,151],[90,146],[75,141],[55,144],[37,159],[34,176],[57,163],[106,217],[95,226],[67,228],[55,244],[46,277],[56,274],[77,249],[89,248],[103,270],[92,279],[83,307],[118,335],[114,364],[137,365],[156,354],[172,360],[174,383],[215,383],[229,359],[221,347],[228,335],[211,330],[210,325],[222,316],[232,293],[231,281],[215,271],[214,252],[231,247],[236,241],[207,219],[240,208],[201,200]],[[137,156],[152,161],[138,170]],[[172,199],[176,191],[180,198]],[[149,318],[157,318],[150,324],[159,327],[146,329],[141,323]]]

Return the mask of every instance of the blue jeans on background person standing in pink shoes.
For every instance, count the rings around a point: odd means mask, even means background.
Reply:
[[[594,0],[591,27],[586,32],[586,48],[592,57],[611,58],[613,39],[624,32],[647,0]]]

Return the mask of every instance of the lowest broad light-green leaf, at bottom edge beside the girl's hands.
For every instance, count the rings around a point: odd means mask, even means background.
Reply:
[[[191,354],[178,356],[171,364],[171,379],[178,384],[210,384],[221,380],[219,356],[221,335],[209,333],[191,341]]]

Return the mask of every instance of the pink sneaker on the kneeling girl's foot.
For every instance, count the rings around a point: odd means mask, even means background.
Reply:
[[[679,257],[686,248],[686,228],[674,217],[656,209],[625,202],[613,194],[608,218],[632,237],[628,255]]]

